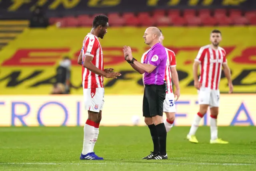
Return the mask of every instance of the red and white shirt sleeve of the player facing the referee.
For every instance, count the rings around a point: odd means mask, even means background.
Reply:
[[[97,42],[98,41],[95,40],[95,37],[88,37],[88,39],[84,43],[84,55],[94,57],[94,55],[96,55],[96,51],[98,49]]]

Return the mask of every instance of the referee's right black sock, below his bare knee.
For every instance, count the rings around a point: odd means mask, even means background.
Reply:
[[[164,126],[164,123],[156,125],[156,129],[158,132],[159,137],[159,143],[160,143],[160,153],[162,155],[166,155],[166,128]]]

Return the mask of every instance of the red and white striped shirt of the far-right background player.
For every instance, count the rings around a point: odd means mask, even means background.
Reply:
[[[226,51],[222,47],[214,50],[206,45],[200,48],[195,61],[201,64],[199,81],[202,87],[218,90],[222,64],[227,63]]]

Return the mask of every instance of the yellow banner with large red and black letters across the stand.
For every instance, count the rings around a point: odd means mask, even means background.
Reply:
[[[142,94],[142,75],[124,61],[122,47],[132,47],[140,59],[148,50],[142,38],[146,28],[109,28],[101,39],[105,68],[122,73],[118,79],[104,79],[106,94]],[[209,44],[212,27],[163,27],[164,46],[176,53],[181,94],[196,94],[192,64],[201,46]],[[256,27],[221,27],[221,46],[227,52],[234,92],[256,92]],[[0,51],[0,94],[49,94],[62,57],[72,59],[72,94],[82,94],[81,66],[77,57],[90,28],[26,29]],[[220,91],[228,92],[227,80]]]

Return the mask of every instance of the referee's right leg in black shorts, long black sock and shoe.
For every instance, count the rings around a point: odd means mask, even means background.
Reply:
[[[163,110],[164,110],[164,99],[166,97],[166,92],[162,86],[154,87],[156,90],[152,91],[152,98],[150,98],[150,116],[156,126],[158,132],[158,138],[160,143],[160,153],[154,155],[149,159],[168,159],[166,153],[166,128],[163,123]]]

